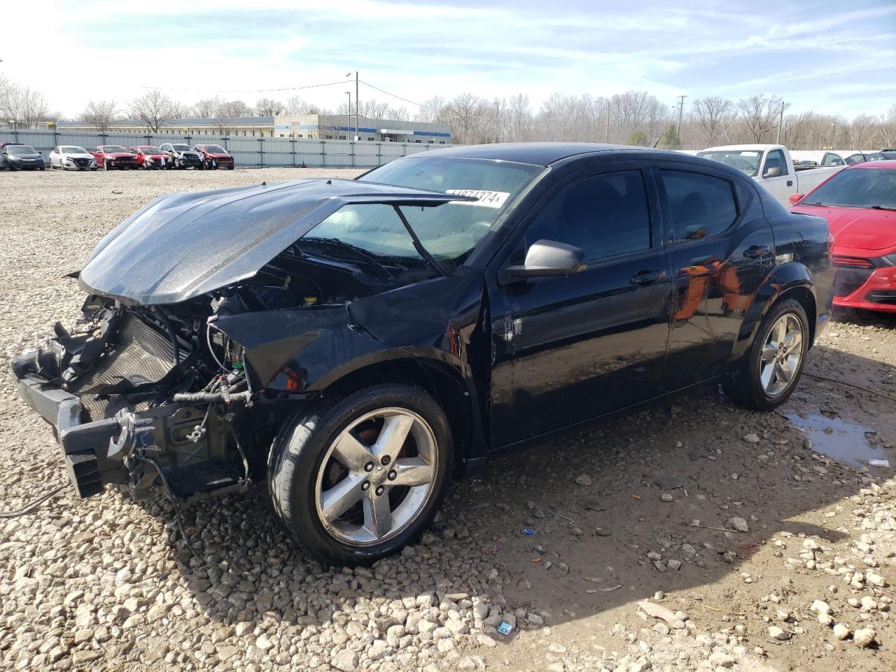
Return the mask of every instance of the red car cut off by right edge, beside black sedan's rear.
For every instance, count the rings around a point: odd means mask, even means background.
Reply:
[[[834,306],[896,313],[896,161],[844,168],[790,202],[831,227]]]

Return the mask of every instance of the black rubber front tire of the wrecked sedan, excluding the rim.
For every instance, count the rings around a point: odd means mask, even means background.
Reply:
[[[340,432],[356,418],[383,408],[408,409],[423,418],[435,436],[434,485],[414,521],[387,541],[353,547],[333,538],[316,509],[317,475]],[[369,564],[413,543],[444,496],[453,463],[451,429],[444,411],[426,392],[403,384],[355,392],[326,409],[307,409],[291,418],[271,446],[268,483],[271,501],[287,530],[302,546],[331,564]]]

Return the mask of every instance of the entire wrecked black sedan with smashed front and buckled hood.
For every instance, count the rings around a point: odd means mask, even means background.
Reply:
[[[13,375],[82,497],[263,482],[297,542],[366,563],[497,448],[706,384],[780,405],[830,316],[829,242],[672,152],[424,152],[150,202]]]

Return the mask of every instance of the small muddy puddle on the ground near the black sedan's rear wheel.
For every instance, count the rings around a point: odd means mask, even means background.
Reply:
[[[883,450],[881,437],[871,427],[840,417],[828,418],[823,415],[785,415],[803,434],[812,441],[814,451],[821,452],[834,460],[847,462],[855,467],[886,466],[875,461],[889,461],[891,455]]]

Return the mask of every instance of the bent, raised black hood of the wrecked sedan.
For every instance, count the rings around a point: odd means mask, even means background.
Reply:
[[[349,203],[437,206],[469,197],[340,179],[295,180],[151,201],[103,238],[79,282],[126,304],[172,304],[251,278]]]

